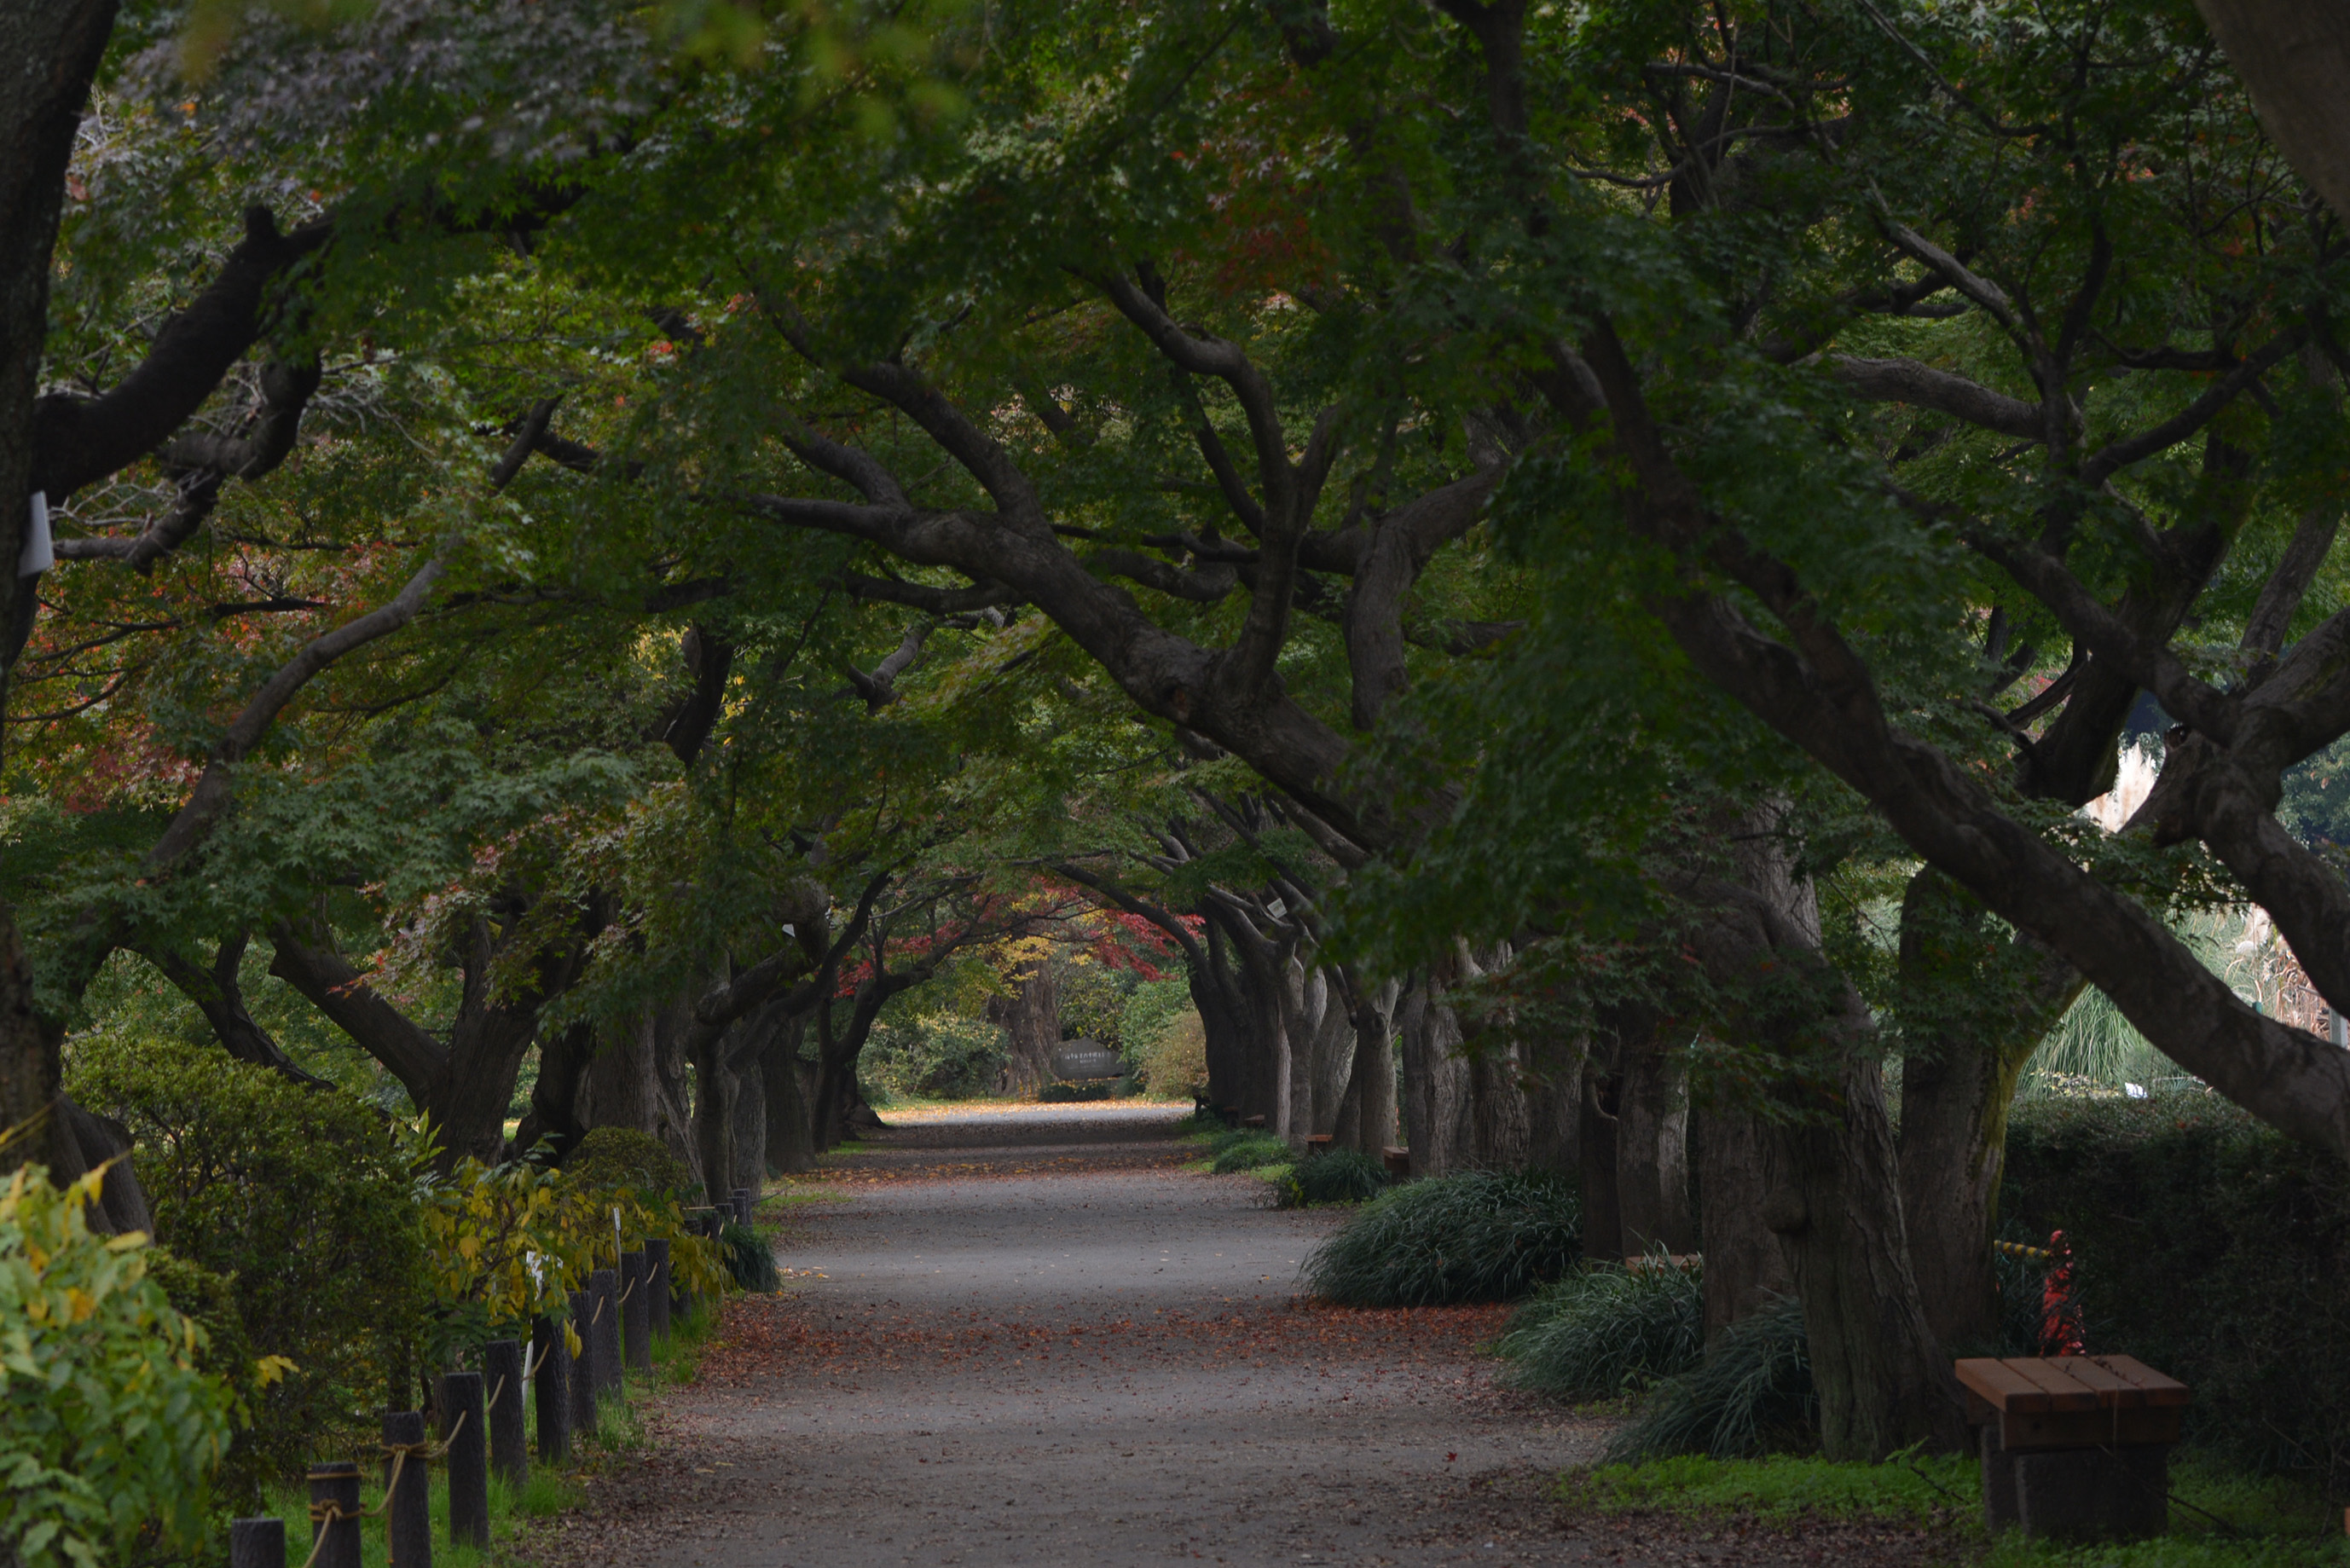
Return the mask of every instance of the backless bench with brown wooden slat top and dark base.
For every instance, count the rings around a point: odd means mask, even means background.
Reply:
[[[1981,1427],[1993,1530],[2120,1540],[2169,1528],[2188,1385],[2136,1356],[1979,1356],[1958,1363],[1958,1385]]]

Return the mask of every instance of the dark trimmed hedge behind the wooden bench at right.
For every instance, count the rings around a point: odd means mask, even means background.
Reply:
[[[2040,1100],[2000,1213],[2066,1232],[2087,1347],[2188,1382],[2190,1441],[2350,1495],[2350,1166],[2218,1095]]]

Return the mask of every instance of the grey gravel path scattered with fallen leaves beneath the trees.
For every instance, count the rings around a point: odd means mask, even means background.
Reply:
[[[1896,1561],[1565,1521],[1598,1427],[1499,1389],[1502,1309],[1295,1300],[1340,1222],[1184,1171],[1173,1112],[909,1121],[792,1208],[660,1446],[538,1554],[613,1568]],[[1864,1542],[1847,1542],[1859,1549]],[[1821,1547],[1828,1547],[1826,1556]]]

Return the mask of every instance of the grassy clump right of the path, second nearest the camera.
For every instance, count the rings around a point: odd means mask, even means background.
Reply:
[[[1593,1262],[1518,1307],[1495,1347],[1509,1382],[1560,1399],[1636,1394],[1706,1354],[1706,1288],[1697,1267]]]

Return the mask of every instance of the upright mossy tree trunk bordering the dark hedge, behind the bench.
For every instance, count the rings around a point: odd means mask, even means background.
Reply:
[[[2028,936],[1995,931],[1936,870],[1901,898],[1901,1208],[1927,1321],[1953,1349],[1998,1340],[1990,1241],[2007,1112],[2033,1048],[2080,994],[2080,973]]]

